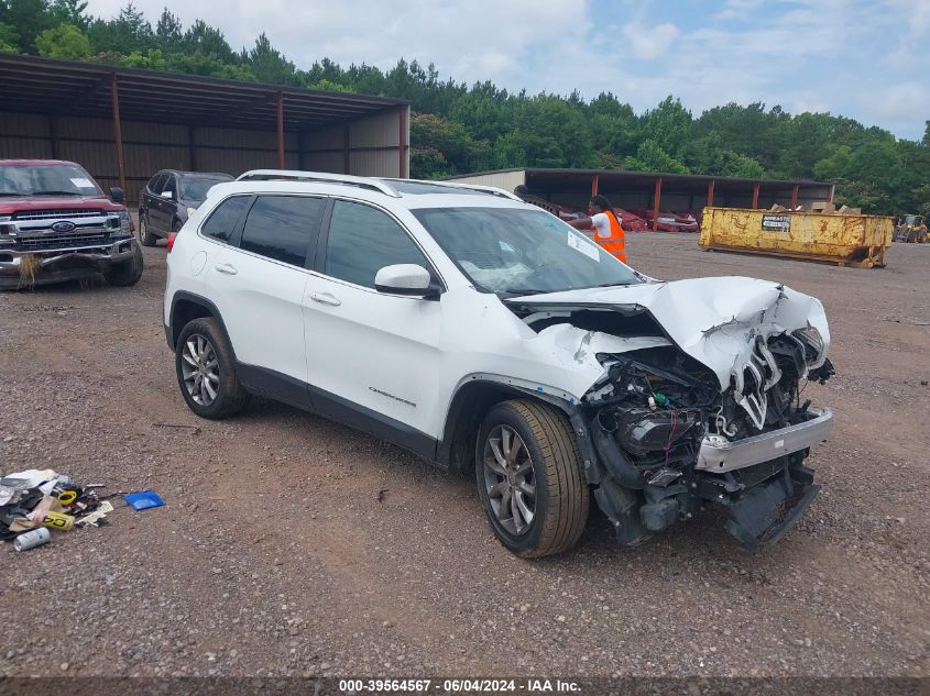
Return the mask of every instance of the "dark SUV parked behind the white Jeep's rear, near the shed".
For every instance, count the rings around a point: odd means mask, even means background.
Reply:
[[[187,222],[212,186],[231,180],[228,174],[216,172],[162,169],[139,195],[139,241],[154,246],[160,236],[167,239]]]

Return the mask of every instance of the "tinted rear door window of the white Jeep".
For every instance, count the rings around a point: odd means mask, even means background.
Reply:
[[[316,243],[325,201],[306,196],[259,196],[249,210],[239,247],[293,266],[304,266]]]

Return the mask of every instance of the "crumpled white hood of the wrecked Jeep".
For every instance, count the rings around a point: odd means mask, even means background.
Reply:
[[[820,300],[784,285],[740,276],[567,290],[506,302],[535,311],[647,311],[678,347],[714,372],[721,390],[730,386],[731,377],[742,385],[756,336],[816,328],[823,351],[811,368],[823,363],[830,344]]]

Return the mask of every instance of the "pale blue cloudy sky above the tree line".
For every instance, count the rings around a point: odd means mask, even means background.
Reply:
[[[113,16],[125,0],[89,0]],[[730,101],[829,111],[920,140],[930,119],[930,0],[134,0],[233,48],[264,31],[297,67],[328,57],[382,69],[401,57],[442,78],[637,112],[667,95],[694,115]]]

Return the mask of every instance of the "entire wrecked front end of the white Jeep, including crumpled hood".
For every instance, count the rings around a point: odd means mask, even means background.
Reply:
[[[833,374],[825,317],[813,298],[773,284],[680,283],[633,290],[632,302],[527,302],[517,313],[540,338],[573,332],[573,357],[602,368],[572,424],[617,540],[639,543],[713,504],[755,551],[790,531],[820,490],[805,462],[832,412],[803,390]],[[720,291],[735,294],[722,301]]]

